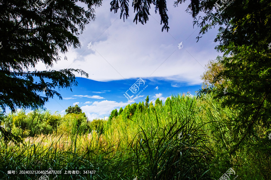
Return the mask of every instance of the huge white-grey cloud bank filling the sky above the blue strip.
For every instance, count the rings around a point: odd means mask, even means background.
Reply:
[[[161,32],[160,23],[157,23],[159,13],[150,11],[153,18],[143,26],[133,22],[134,13],[123,23],[118,18],[119,13],[114,14],[109,8],[110,4],[105,3],[95,9],[95,21],[86,26],[82,37],[79,36],[81,48],[70,48],[66,53],[68,60],[65,61],[62,56],[61,61],[54,63],[51,69],[64,69],[72,64],[73,68],[91,74],[89,79],[96,81],[144,79],[151,76],[195,85],[201,83],[204,64],[220,55],[214,49],[218,42],[213,42],[217,28],[211,29],[196,43],[195,38],[200,29],[193,29],[193,18],[180,8],[168,7],[170,34]],[[137,38],[134,38],[135,34]],[[93,47],[88,49],[87,44],[91,41]],[[183,48],[178,49],[181,41]],[[38,63],[35,68],[46,70],[42,63]]]

